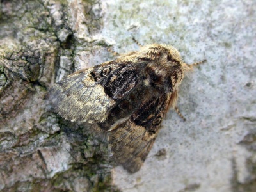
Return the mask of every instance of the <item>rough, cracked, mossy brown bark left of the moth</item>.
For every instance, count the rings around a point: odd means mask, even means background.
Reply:
[[[97,1],[1,1],[0,190],[116,191],[107,146],[51,111],[45,93],[74,72],[102,26]],[[76,66],[77,67],[77,66]]]

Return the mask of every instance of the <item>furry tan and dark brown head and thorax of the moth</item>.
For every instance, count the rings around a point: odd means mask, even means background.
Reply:
[[[183,61],[177,49],[170,45],[152,44],[132,53],[132,57],[141,67],[146,65],[145,85],[151,86],[159,93],[177,90],[184,77]]]

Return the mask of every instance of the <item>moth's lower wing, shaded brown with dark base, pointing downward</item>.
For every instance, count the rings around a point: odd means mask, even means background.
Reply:
[[[140,104],[128,118],[116,122],[108,131],[108,143],[113,161],[128,170],[137,172],[145,161],[156,139],[168,107],[170,95]]]

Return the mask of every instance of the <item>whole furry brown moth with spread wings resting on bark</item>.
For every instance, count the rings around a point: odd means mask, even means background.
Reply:
[[[49,95],[63,118],[106,131],[111,159],[134,173],[152,148],[168,109],[176,107],[184,73],[199,63],[184,63],[170,45],[147,45],[70,74],[54,84]]]

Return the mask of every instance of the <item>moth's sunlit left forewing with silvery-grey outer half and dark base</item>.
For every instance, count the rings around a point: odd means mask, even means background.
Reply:
[[[54,84],[48,95],[56,112],[67,120],[104,122],[139,81],[134,65],[110,61],[70,74]]]

